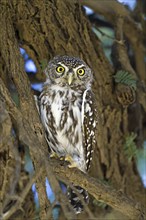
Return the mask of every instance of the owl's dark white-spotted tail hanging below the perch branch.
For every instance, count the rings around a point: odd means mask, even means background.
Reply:
[[[76,214],[83,211],[83,201],[88,204],[89,196],[88,192],[80,186],[74,186],[76,190],[68,188],[67,196]],[[77,191],[77,192],[75,192]],[[81,199],[82,198],[82,199]]]

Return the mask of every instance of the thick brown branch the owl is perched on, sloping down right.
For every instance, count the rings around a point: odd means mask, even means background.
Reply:
[[[51,159],[49,164],[58,177],[83,187],[98,201],[103,201],[115,210],[130,217],[130,219],[144,219],[144,208],[120,190],[117,191],[100,180],[82,173],[80,170],[62,166],[60,161]]]

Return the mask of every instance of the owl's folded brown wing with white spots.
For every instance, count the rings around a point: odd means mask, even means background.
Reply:
[[[86,90],[83,94],[82,123],[84,134],[84,154],[86,168],[88,170],[92,160],[92,153],[96,145],[96,127],[98,123],[96,101],[91,90]]]

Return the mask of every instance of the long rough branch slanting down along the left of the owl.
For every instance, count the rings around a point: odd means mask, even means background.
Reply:
[[[7,109],[11,113],[10,117],[13,120],[14,126],[17,128],[16,132],[20,142],[29,146],[31,158],[37,172],[40,168],[41,160],[44,157],[43,155],[47,155],[48,153],[48,147],[35,107],[35,101],[31,94],[30,83],[23,68],[24,62],[15,37],[11,12],[8,7],[6,10],[1,8],[0,26],[3,27],[3,32],[1,32],[0,48],[2,57],[5,60],[5,66],[8,69],[9,77],[14,81],[17,88],[20,99],[20,109],[18,109],[12,101],[10,93],[2,80],[0,83],[0,93],[6,101]],[[3,44],[4,39],[5,44]],[[42,172],[41,177],[37,179],[36,183],[42,219],[46,217],[46,207],[49,206],[49,200],[47,199],[45,190],[45,178],[46,174]]]

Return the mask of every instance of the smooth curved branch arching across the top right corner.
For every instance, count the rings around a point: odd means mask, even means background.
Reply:
[[[82,5],[92,8],[96,13],[103,15],[110,23],[115,25],[117,17],[123,18],[123,32],[131,42],[136,62],[136,70],[142,81],[146,83],[146,67],[144,62],[143,31],[131,18],[130,12],[115,0],[81,0]]]

